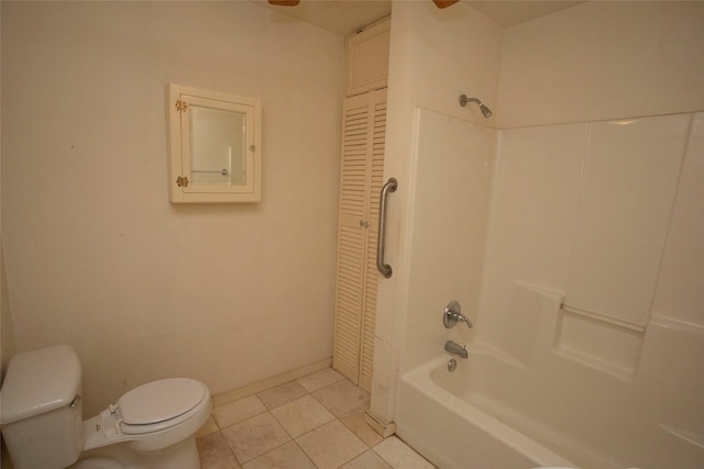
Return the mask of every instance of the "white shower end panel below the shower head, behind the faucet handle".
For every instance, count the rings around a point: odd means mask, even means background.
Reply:
[[[496,132],[419,109],[416,135],[404,369],[437,356],[448,338],[471,342],[464,324],[443,327],[442,312],[458,300],[476,317]]]

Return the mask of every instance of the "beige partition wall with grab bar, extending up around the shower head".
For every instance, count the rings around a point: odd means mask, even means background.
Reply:
[[[380,280],[371,404],[371,412],[385,423],[392,420],[414,288],[409,277],[415,249],[410,232],[417,176],[417,109],[493,127],[494,118],[485,120],[476,107],[460,107],[459,97],[479,97],[493,108],[498,97],[501,55],[502,29],[465,3],[446,10],[437,9],[432,2],[393,4],[384,174],[385,178],[398,179],[398,189],[388,201],[386,233],[386,261],[394,268],[394,276]],[[442,182],[430,182],[433,183]],[[442,326],[440,315],[437,324]]]

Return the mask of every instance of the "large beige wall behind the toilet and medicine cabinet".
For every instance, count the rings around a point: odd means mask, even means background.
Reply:
[[[2,2],[18,350],[74,347],[87,413],[328,358],[342,71],[343,37],[249,2]],[[168,82],[262,98],[261,203],[168,203]]]

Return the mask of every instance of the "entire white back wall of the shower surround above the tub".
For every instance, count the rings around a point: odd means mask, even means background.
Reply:
[[[703,145],[704,113],[502,131],[477,339],[510,349],[516,281],[565,297],[556,351],[622,379],[651,315],[701,328]]]

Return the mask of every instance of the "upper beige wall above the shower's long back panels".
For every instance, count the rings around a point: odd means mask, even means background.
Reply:
[[[499,127],[704,109],[704,3],[585,2],[504,32]]]

